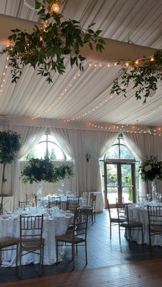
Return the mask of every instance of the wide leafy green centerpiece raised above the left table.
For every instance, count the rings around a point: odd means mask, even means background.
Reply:
[[[69,164],[60,164],[55,167],[49,158],[45,160],[32,158],[29,164],[21,171],[22,182],[26,184],[29,182],[58,182],[60,179],[69,178],[73,175],[73,168]]]

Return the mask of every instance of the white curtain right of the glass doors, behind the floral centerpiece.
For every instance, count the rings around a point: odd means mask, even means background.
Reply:
[[[130,148],[130,151],[143,162],[146,157],[150,155],[157,155],[158,159],[162,158],[162,138],[158,135],[150,134],[128,134],[124,133],[124,140]],[[162,183],[159,182],[159,190],[161,190]],[[143,182],[139,180],[139,195],[146,195],[151,190],[150,184],[148,182]]]

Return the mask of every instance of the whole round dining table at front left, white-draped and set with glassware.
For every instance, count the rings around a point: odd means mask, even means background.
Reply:
[[[55,236],[65,234],[67,228],[73,223],[73,214],[64,212],[63,210],[49,211],[45,208],[31,208],[29,210],[16,210],[3,216],[0,216],[0,236],[14,236],[19,238],[20,234],[20,219],[19,214],[40,215],[44,214],[43,218],[43,238],[44,244],[44,264],[51,265],[56,263],[56,242]],[[62,261],[63,249],[59,248],[58,261]],[[22,265],[30,263],[39,263],[39,256],[34,253],[28,253],[22,257]],[[16,251],[6,250],[2,252],[2,265],[4,267],[15,266]]]

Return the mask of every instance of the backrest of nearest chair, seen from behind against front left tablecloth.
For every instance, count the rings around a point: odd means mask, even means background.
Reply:
[[[43,236],[43,214],[41,216],[20,215],[20,241],[36,238],[42,240]]]

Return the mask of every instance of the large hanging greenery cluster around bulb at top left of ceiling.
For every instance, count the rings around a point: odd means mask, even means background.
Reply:
[[[38,74],[47,77],[52,82],[51,72],[60,74],[65,72],[65,55],[69,55],[71,67],[76,64],[83,71],[82,62],[86,59],[80,54],[80,49],[88,43],[89,48],[102,52],[104,40],[97,38],[101,30],[96,32],[89,25],[86,32],[76,20],[64,21],[63,16],[51,10],[54,0],[35,1],[43,27],[34,26],[32,34],[20,29],[12,29],[8,40],[14,45],[6,47],[1,53],[8,53],[11,67],[12,82],[17,82],[21,76],[23,66],[30,64]],[[63,20],[63,21],[62,21]]]

